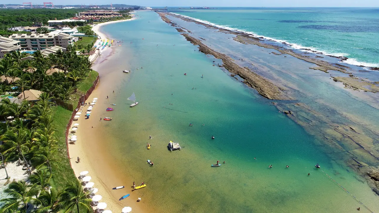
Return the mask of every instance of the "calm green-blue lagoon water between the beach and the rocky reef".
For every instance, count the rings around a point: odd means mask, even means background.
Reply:
[[[115,90],[110,99],[99,100],[117,104],[104,112],[113,120],[102,124],[99,137],[125,185],[147,183],[138,192],[148,212],[368,212],[323,171],[379,211],[367,184],[337,163],[337,155],[319,150],[320,141],[271,101],[212,66],[214,58],[199,53],[158,14],[136,14],[136,20],[101,28],[123,41],[102,63],[132,73],[109,85]],[[139,104],[130,108],[132,92]],[[183,149],[170,152],[170,140]],[[226,163],[211,168],[217,160]]]

